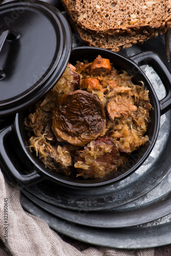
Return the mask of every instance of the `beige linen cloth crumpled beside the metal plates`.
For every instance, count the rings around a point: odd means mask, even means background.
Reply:
[[[91,245],[79,251],[63,241],[44,220],[28,214],[20,205],[19,194],[19,188],[7,183],[0,169],[0,256],[154,255],[154,249],[120,250]]]

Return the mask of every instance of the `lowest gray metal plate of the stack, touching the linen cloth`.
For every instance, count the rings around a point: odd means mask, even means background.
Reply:
[[[162,219],[154,221],[151,225],[140,225],[126,228],[97,228],[81,226],[62,220],[21,196],[20,201],[30,214],[44,220],[57,231],[59,236],[68,237],[92,245],[105,246],[117,249],[144,249],[171,243],[171,222],[162,224]],[[170,219],[170,217],[169,217]],[[164,222],[164,221],[163,221]]]

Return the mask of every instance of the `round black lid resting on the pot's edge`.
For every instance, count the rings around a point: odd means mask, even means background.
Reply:
[[[42,3],[0,6],[0,116],[33,105],[67,66],[70,26],[58,9]]]

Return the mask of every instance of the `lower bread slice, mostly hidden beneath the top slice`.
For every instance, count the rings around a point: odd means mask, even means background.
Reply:
[[[136,31],[136,34],[134,35],[94,33],[90,30],[83,29],[77,23],[77,11],[75,10],[76,0],[61,0],[61,2],[69,15],[71,25],[79,34],[80,38],[89,46],[101,47],[118,52],[120,49],[131,47],[134,44],[143,44],[147,39],[156,37],[159,33],[163,34],[167,31],[164,26],[162,29],[159,28],[158,31],[155,31],[154,29],[151,32],[148,32],[145,29],[142,32]]]

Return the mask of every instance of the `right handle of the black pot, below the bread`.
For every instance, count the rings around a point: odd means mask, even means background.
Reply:
[[[152,51],[144,51],[130,57],[138,66],[150,65],[159,75],[166,90],[166,96],[159,100],[160,113],[163,115],[171,108],[171,74],[159,54]]]

